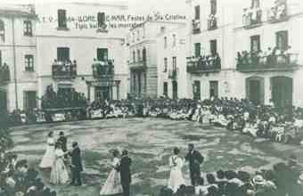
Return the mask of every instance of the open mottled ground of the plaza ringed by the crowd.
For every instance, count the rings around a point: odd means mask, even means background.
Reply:
[[[101,184],[111,171],[110,150],[116,148],[127,149],[133,159],[131,195],[157,195],[160,187],[167,184],[168,157],[173,148],[180,147],[184,156],[188,143],[194,143],[205,157],[201,166],[203,172],[222,168],[253,173],[285,161],[290,154],[302,159],[299,146],[271,143],[191,121],[161,118],[113,118],[14,127],[11,132],[15,142],[12,151],[17,152],[20,159],[29,159],[31,166],[38,167],[45,152],[46,135],[51,130],[55,137],[64,131],[69,147],[73,141],[78,141],[85,165],[82,187],[50,185],[59,196],[99,195]],[[47,183],[50,171],[44,170],[41,174]],[[189,184],[187,164],[184,177]]]

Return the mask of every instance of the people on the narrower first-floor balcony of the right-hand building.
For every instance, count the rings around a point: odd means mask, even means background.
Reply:
[[[221,69],[221,58],[218,53],[212,53],[210,55],[200,55],[199,57],[192,57],[193,64],[188,64],[191,69]]]

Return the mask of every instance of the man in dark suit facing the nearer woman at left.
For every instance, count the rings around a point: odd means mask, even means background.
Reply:
[[[78,143],[72,143],[73,150],[69,153],[71,156],[71,173],[72,180],[70,185],[82,185],[80,173],[83,171],[82,161],[81,161],[81,151],[78,147]],[[77,182],[76,182],[77,181]]]

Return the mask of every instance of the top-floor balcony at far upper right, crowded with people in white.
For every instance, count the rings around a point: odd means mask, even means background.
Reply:
[[[267,21],[270,23],[281,22],[288,19],[286,2],[276,2],[271,9],[267,10]]]

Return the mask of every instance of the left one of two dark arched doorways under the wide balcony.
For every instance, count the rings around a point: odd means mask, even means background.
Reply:
[[[246,98],[255,104],[264,104],[264,78],[246,78]]]

